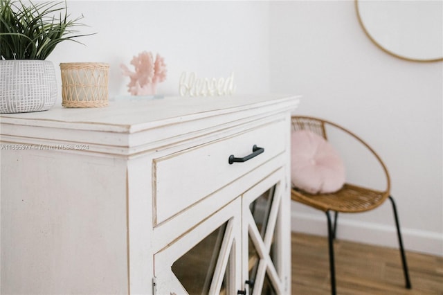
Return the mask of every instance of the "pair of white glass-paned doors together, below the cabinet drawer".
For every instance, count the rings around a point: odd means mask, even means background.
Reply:
[[[282,183],[280,169],[156,253],[154,294],[289,294]]]

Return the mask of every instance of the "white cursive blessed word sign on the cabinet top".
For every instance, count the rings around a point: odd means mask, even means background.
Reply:
[[[234,91],[234,72],[227,78],[197,78],[186,72],[180,76],[180,96],[230,96]]]

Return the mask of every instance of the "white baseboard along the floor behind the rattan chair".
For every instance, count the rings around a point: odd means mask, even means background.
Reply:
[[[291,230],[294,232],[327,236],[326,224],[324,214],[313,215],[297,212],[291,215]],[[401,227],[401,235],[406,251],[443,256],[443,235],[441,233]],[[386,226],[339,218],[336,238],[383,247],[399,247],[394,225]]]

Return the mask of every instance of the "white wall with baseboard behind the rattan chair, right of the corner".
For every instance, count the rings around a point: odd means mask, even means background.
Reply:
[[[381,51],[354,1],[273,1],[270,24],[271,91],[302,94],[297,114],[368,141],[390,171],[405,247],[443,256],[443,62]],[[323,213],[293,204],[292,217],[294,231],[326,234]],[[339,220],[338,238],[397,247],[389,202]]]

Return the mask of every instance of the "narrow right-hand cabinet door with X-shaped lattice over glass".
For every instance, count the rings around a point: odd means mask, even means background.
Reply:
[[[242,197],[242,260],[245,294],[289,294],[289,205],[282,169]]]

